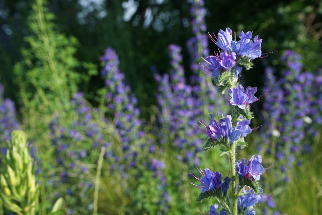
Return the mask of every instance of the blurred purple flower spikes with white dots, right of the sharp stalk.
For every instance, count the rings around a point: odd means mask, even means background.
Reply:
[[[263,127],[259,129],[258,149],[275,158],[274,171],[279,175],[273,189],[284,189],[290,180],[289,171],[301,165],[301,155],[309,153],[310,137],[322,124],[322,70],[303,71],[301,55],[286,50],[281,56],[285,67],[265,69],[264,91],[269,93],[263,103]],[[264,145],[263,145],[264,143]],[[267,205],[275,207],[273,198]]]

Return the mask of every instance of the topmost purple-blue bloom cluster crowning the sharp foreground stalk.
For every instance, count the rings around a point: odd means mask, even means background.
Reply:
[[[252,32],[241,31],[239,41],[232,40],[230,28],[220,30],[217,36],[209,34],[209,37],[222,50],[204,58],[202,67],[205,74],[214,78],[218,91],[224,92],[235,87],[232,84],[237,83],[241,70],[252,68],[253,60],[262,55],[262,39],[257,35],[253,41]]]

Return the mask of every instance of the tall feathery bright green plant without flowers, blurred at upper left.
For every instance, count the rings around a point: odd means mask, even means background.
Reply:
[[[79,63],[73,56],[77,40],[55,29],[55,17],[44,3],[35,0],[32,6],[28,17],[32,33],[25,37],[27,47],[22,49],[23,60],[15,64],[14,73],[20,88],[24,129],[31,139],[41,139],[39,145],[46,149],[46,130],[53,113],[64,117],[63,113],[70,108],[70,97],[77,92],[77,83],[81,80],[75,71]]]

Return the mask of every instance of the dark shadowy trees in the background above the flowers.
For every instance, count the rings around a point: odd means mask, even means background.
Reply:
[[[17,85],[13,83],[13,65],[22,59],[20,50],[26,47],[24,37],[31,34],[26,17],[32,13],[32,1],[0,1],[0,50],[2,82],[6,96],[17,100]],[[120,68],[127,82],[137,95],[140,106],[155,103],[153,93],[156,84],[150,73],[155,65],[161,73],[169,70],[168,47],[176,43],[185,47],[192,36],[189,1],[48,1],[48,9],[54,13],[55,28],[78,41],[75,53],[79,62],[87,61],[99,65],[98,53],[108,46],[117,50]],[[205,1],[205,17],[209,32],[217,32],[229,26],[236,32],[252,30],[261,35],[264,60],[255,63],[256,73],[247,73],[247,84],[261,87],[263,64],[280,65],[282,50],[292,49],[303,56],[307,70],[314,71],[321,65],[322,9],[320,1],[241,1],[227,4],[222,1]],[[211,50],[216,50],[210,44]],[[189,75],[187,50],[183,48],[184,66]],[[78,67],[78,74],[87,69]],[[249,75],[249,76],[248,76]],[[260,85],[259,80],[261,80]],[[103,83],[93,76],[86,98],[94,105],[93,92]],[[79,83],[84,86],[84,83]],[[143,105],[144,104],[144,105]],[[147,117],[149,109],[143,109]]]

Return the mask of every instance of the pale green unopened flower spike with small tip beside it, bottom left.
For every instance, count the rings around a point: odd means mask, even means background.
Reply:
[[[39,210],[39,184],[36,183],[33,159],[28,152],[27,137],[21,130],[12,131],[5,159],[5,173],[0,175],[0,197],[10,211],[33,215]],[[61,214],[59,198],[49,214]]]

